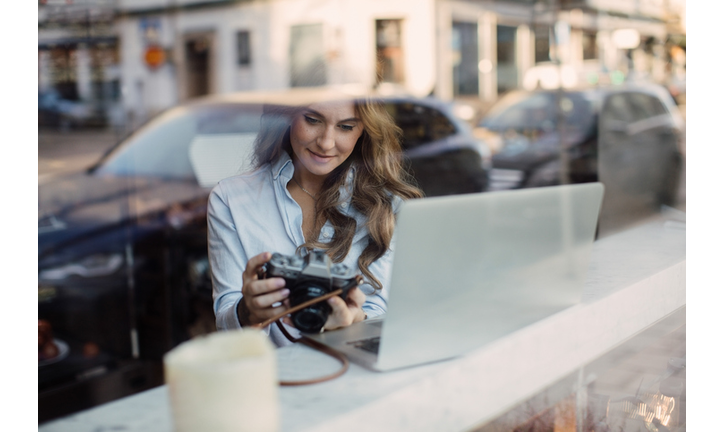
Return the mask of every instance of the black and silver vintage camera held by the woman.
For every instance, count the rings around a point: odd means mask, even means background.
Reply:
[[[345,264],[332,263],[324,251],[311,251],[307,255],[275,253],[265,266],[266,277],[281,277],[289,289],[291,307],[342,289],[341,297],[357,286],[361,278]],[[292,313],[294,326],[304,333],[319,333],[332,307],[326,301],[314,303]]]

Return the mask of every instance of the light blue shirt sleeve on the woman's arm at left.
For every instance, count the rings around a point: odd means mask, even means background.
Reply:
[[[208,253],[214,314],[219,330],[239,329],[236,307],[241,300],[242,274],[248,257],[239,239],[229,205],[218,184],[208,202]]]

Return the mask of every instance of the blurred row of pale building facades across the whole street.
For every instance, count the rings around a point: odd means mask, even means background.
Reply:
[[[131,129],[213,93],[354,85],[484,105],[516,88],[664,83],[670,36],[685,35],[680,0],[78,1],[75,41],[51,25],[72,8],[40,6],[39,89],[115,103],[114,121]],[[78,36],[83,10],[86,28],[105,33]]]

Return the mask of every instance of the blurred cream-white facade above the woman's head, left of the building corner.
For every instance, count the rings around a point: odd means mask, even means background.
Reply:
[[[124,104],[146,118],[210,93],[434,82],[432,0],[122,1]],[[166,61],[151,67],[149,47]],[[136,112],[138,111],[138,112]]]

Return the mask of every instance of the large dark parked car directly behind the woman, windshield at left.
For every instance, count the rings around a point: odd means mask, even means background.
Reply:
[[[105,401],[91,395],[160,384],[162,355],[213,329],[209,192],[249,166],[265,102],[314,95],[193,101],[160,114],[91,168],[39,185],[38,315],[68,348],[38,370],[41,421]],[[428,196],[486,188],[490,153],[447,104],[382,101]],[[99,392],[102,380],[124,393]]]

